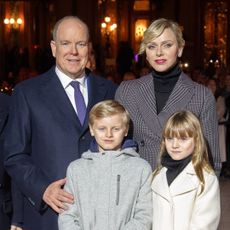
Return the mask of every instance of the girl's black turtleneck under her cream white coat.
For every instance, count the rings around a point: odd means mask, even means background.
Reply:
[[[166,177],[170,186],[174,179],[182,172],[192,159],[192,154],[181,160],[173,160],[168,153],[161,158],[162,166],[167,168]]]

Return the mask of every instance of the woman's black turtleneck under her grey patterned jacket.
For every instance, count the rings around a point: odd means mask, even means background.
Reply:
[[[157,72],[153,70],[154,91],[156,97],[157,114],[161,112],[165,106],[174,86],[179,79],[181,69],[178,64],[167,72]]]

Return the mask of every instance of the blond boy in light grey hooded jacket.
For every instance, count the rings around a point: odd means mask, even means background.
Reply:
[[[89,114],[95,140],[67,169],[65,190],[74,203],[59,215],[59,230],[151,229],[151,166],[124,140],[130,117],[114,100],[96,104]]]

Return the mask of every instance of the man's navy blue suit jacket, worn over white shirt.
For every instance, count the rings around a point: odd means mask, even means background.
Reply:
[[[116,86],[88,76],[89,102],[112,99]],[[44,208],[47,186],[66,175],[69,163],[91,141],[88,115],[83,127],[54,67],[15,87],[6,127],[5,166],[24,195],[24,230],[57,230],[57,214]]]

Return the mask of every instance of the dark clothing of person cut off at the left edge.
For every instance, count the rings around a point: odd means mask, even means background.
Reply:
[[[3,129],[8,116],[9,96],[0,93],[0,229],[6,230],[10,227],[10,216],[12,212],[10,178],[3,167]]]

